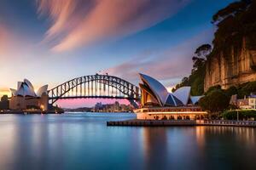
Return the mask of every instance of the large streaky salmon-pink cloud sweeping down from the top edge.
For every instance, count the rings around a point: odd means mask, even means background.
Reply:
[[[38,0],[39,14],[51,26],[45,40],[52,50],[72,50],[82,45],[131,35],[176,14],[190,0]]]

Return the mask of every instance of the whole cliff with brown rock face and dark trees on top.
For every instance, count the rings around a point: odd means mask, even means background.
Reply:
[[[212,17],[217,26],[204,88],[256,81],[256,0],[230,3]]]

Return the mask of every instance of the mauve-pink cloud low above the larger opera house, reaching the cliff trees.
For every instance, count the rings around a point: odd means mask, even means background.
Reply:
[[[192,56],[195,48],[203,43],[211,42],[212,30],[192,37],[176,47],[167,48],[158,53],[138,54],[131,60],[113,66],[104,72],[130,81],[138,80],[138,73],[148,74],[162,81],[168,81],[168,87],[177,82],[172,80],[188,76],[192,68]]]

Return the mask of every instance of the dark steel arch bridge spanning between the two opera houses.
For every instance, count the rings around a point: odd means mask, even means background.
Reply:
[[[90,75],[77,77],[64,82],[48,91],[49,104],[58,99],[128,99],[137,107],[141,97],[140,88],[119,77],[108,75]]]

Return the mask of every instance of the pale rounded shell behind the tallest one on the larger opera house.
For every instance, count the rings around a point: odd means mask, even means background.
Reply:
[[[183,102],[183,105],[188,105],[189,103],[189,96],[190,96],[191,87],[184,86],[182,88],[177,88],[177,90],[173,93],[177,99]]]

